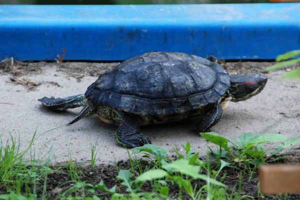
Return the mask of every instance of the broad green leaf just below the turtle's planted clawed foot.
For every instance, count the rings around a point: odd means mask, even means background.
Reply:
[[[148,152],[155,158],[159,159],[160,161],[165,157],[165,155],[168,152],[168,150],[163,147],[151,145],[151,144],[145,144],[142,147],[134,147],[133,149],[131,149],[131,151],[135,154],[139,152]]]

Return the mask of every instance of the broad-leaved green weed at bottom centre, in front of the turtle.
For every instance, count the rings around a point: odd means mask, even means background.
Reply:
[[[185,149],[186,156],[184,157],[176,149],[175,153],[179,156],[178,160],[167,162],[164,159],[164,156],[167,154],[167,150],[155,146],[155,145],[144,145],[143,147],[137,147],[132,149],[133,152],[147,152],[151,156],[156,158],[157,169],[152,169],[147,172],[144,172],[138,176],[135,182],[144,183],[146,181],[154,181],[154,185],[158,186],[161,183],[161,179],[164,179],[164,183],[172,182],[175,183],[179,188],[179,197],[181,199],[182,190],[194,200],[195,199],[195,189],[192,187],[191,182],[194,180],[203,180],[206,181],[207,186],[210,188],[211,185],[226,187],[224,184],[216,181],[213,178],[210,178],[205,175],[201,175],[200,168],[201,166],[205,168],[205,165],[202,161],[198,159],[199,154],[192,154],[194,149],[190,148],[190,144],[187,143],[186,146],[182,146]],[[149,156],[149,155],[148,155]],[[196,164],[196,165],[194,165]],[[220,169],[221,170],[221,169]],[[216,176],[215,176],[216,177]],[[158,186],[159,187],[159,186]],[[163,186],[160,189],[160,194],[166,194],[168,189]]]

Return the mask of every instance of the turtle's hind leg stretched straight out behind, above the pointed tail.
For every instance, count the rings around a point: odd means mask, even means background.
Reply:
[[[77,108],[80,106],[85,106],[86,99],[84,94],[78,94],[65,98],[54,98],[54,97],[43,97],[38,99],[47,109],[53,111],[63,111],[69,108]]]

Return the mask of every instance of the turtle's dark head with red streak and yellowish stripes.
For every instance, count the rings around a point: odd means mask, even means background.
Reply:
[[[244,101],[262,91],[267,81],[267,77],[261,74],[255,75],[231,75],[229,96],[233,102]]]

